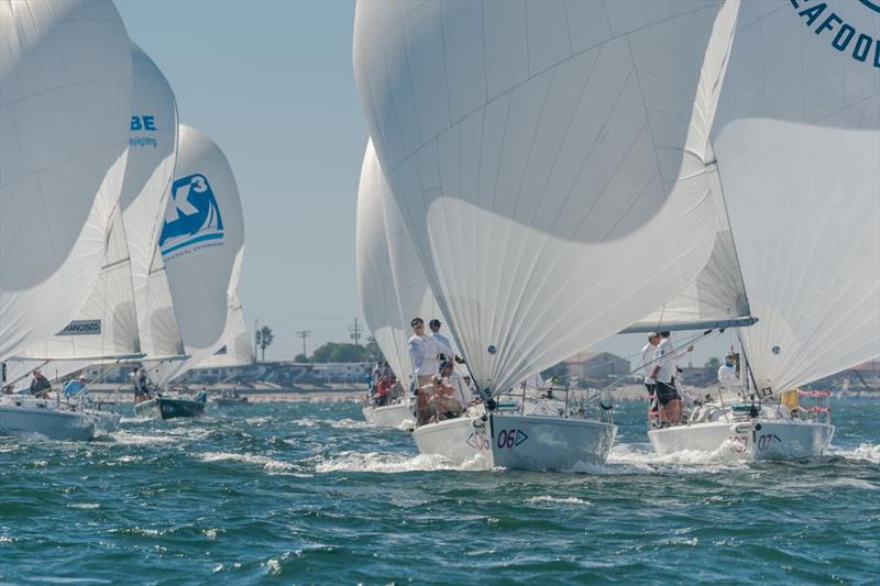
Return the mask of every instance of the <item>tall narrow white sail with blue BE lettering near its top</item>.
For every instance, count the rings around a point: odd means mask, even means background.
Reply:
[[[156,64],[132,44],[133,87],[129,164],[120,206],[131,258],[141,352],[183,353],[158,236],[177,158],[177,101]]]

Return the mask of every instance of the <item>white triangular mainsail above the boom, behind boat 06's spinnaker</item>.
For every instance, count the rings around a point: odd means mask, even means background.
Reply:
[[[702,330],[755,323],[727,221],[716,166],[708,169],[711,197],[715,203],[716,234],[706,266],[670,301],[622,333],[663,330]]]

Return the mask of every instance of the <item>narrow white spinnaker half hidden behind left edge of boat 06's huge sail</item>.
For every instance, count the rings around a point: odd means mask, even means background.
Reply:
[[[407,382],[413,374],[407,345],[410,334],[408,320],[404,319],[397,300],[385,223],[385,204],[391,197],[370,142],[358,187],[358,289],[370,332],[397,377]]]

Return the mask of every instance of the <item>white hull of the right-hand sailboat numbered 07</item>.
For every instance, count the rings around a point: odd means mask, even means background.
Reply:
[[[750,462],[822,456],[833,435],[834,425],[807,421],[710,421],[648,432],[659,455],[692,450]]]

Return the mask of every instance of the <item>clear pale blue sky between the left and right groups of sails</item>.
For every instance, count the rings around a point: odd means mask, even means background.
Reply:
[[[366,145],[352,73],[348,1],[118,0],[131,38],[158,65],[180,122],[226,153],[244,207],[239,292],[253,335],[270,325],[266,360],[349,341],[363,324],[354,266],[358,179]],[[639,353],[642,334],[592,350]],[[685,334],[681,334],[684,339]],[[680,361],[721,356],[732,333]],[[634,366],[636,364],[634,363]]]

